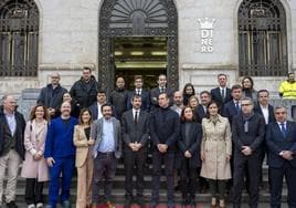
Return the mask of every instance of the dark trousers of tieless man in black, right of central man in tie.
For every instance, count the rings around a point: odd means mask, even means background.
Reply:
[[[154,165],[154,176],[152,176],[152,202],[158,202],[159,200],[159,188],[160,188],[160,176],[161,176],[161,165],[165,164],[165,173],[167,177],[167,191],[168,191],[168,204],[175,202],[175,186],[173,186],[173,163],[175,153],[159,153],[154,152],[152,165]]]

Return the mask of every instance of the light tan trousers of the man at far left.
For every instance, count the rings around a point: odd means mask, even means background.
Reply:
[[[20,155],[11,149],[7,155],[0,157],[0,205],[2,205],[3,180],[7,176],[6,202],[15,200],[17,180],[19,175],[19,166],[21,164]]]

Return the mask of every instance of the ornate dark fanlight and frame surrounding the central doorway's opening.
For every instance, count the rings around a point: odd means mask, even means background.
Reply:
[[[168,86],[178,89],[178,14],[173,0],[105,0],[99,14],[98,77],[114,85],[113,39],[167,37]]]

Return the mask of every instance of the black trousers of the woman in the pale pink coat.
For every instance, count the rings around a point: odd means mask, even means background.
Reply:
[[[24,194],[27,205],[43,202],[43,184],[36,178],[27,178]]]

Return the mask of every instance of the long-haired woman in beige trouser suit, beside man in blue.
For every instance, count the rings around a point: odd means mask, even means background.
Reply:
[[[92,146],[95,141],[91,138],[92,113],[83,108],[80,113],[78,124],[74,127],[74,145],[76,146],[77,167],[77,199],[76,208],[91,207],[92,205],[92,180],[94,160]]]

